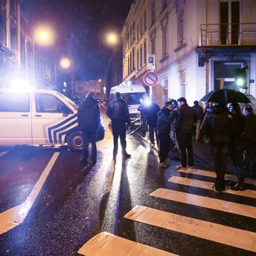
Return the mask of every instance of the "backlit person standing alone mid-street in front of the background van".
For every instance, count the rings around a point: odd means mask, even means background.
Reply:
[[[126,123],[130,126],[130,115],[125,100],[121,99],[119,92],[116,92],[115,99],[109,103],[106,115],[111,119],[112,134],[114,140],[113,161],[116,163],[118,151],[118,138],[122,147],[123,159],[126,160],[130,154],[126,152]]]

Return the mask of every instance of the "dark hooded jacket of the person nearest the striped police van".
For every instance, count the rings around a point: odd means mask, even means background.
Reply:
[[[96,131],[100,123],[99,106],[92,97],[85,98],[78,109],[78,126],[80,130]]]

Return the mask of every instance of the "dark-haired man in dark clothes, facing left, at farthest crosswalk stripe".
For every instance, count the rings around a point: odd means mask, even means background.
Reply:
[[[178,99],[178,116],[175,120],[175,132],[179,150],[181,151],[181,164],[177,170],[186,170],[187,159],[189,169],[193,168],[194,157],[192,148],[192,137],[194,125],[197,121],[195,110],[187,104],[185,98]]]

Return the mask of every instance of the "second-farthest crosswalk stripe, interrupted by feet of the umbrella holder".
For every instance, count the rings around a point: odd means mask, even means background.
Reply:
[[[190,185],[190,186],[198,187],[201,189],[213,190],[211,187],[213,185],[213,182],[202,182],[202,181],[198,181],[198,180],[195,180],[192,178],[183,178],[183,177],[172,176],[171,178],[168,179],[168,182],[178,183],[181,185]],[[242,196],[247,196],[247,197],[256,199],[256,191],[250,190],[250,189],[246,189],[244,191],[236,191],[236,190],[227,189],[227,190],[223,191],[223,193],[228,193],[228,194],[233,194],[233,195],[242,195]]]

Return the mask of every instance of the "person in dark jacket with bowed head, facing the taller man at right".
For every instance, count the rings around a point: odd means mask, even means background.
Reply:
[[[174,118],[171,116],[171,102],[165,102],[164,107],[157,112],[157,133],[159,137],[159,167],[168,168],[169,164],[165,162],[170,150],[170,130],[171,122]]]

